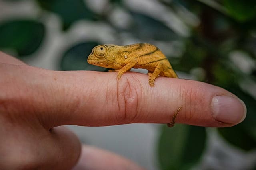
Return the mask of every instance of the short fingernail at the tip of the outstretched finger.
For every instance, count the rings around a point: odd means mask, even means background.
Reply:
[[[246,106],[242,100],[220,95],[212,99],[212,116],[223,123],[238,124],[246,117]]]

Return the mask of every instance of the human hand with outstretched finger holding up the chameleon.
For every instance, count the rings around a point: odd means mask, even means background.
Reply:
[[[116,72],[52,71],[0,53],[0,169],[140,169],[112,153],[81,145],[61,125],[176,123],[229,127],[246,116],[234,94],[210,84]],[[80,155],[81,153],[81,155]],[[104,160],[104,161],[103,161]],[[98,163],[100,162],[100,163]]]

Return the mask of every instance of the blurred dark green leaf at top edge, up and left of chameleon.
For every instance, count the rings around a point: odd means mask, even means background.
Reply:
[[[63,29],[68,29],[72,23],[80,19],[93,20],[94,14],[86,6],[84,0],[36,0],[46,10],[60,15]]]

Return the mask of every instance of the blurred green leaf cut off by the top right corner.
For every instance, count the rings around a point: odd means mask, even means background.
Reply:
[[[248,21],[256,15],[255,0],[223,0],[223,4],[229,14],[238,21]]]

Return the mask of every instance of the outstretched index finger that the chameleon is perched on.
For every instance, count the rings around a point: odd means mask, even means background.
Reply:
[[[29,75],[22,81],[32,88],[26,93],[32,105],[27,111],[36,112],[50,128],[170,123],[180,106],[176,122],[190,125],[227,127],[240,123],[246,115],[244,103],[234,94],[192,80],[159,77],[151,87],[147,75],[134,72],[125,73],[121,80],[115,72],[33,67],[22,72]]]

